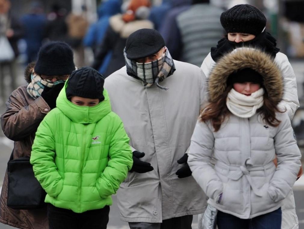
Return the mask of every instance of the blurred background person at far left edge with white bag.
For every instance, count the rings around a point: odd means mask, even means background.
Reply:
[[[18,40],[23,35],[21,22],[10,12],[11,2],[9,0],[0,0],[0,35],[6,36],[14,51],[15,57],[11,61],[0,62],[0,80],[1,96],[5,100],[4,69],[9,69],[11,89],[16,89],[16,72],[15,63],[19,55]],[[1,55],[1,54],[0,54]]]

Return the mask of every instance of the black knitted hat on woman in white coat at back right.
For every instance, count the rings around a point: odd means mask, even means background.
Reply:
[[[266,26],[264,14],[255,6],[248,4],[233,6],[222,13],[220,20],[227,33],[259,35]]]

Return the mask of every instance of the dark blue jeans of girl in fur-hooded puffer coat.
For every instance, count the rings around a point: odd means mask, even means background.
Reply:
[[[240,219],[221,211],[217,213],[217,227],[219,229],[281,229],[281,221],[281,207],[252,219]]]

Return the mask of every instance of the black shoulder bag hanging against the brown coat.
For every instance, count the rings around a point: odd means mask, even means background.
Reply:
[[[46,192],[34,176],[29,157],[13,160],[13,152],[7,163],[7,206],[13,209],[36,209],[45,206]]]

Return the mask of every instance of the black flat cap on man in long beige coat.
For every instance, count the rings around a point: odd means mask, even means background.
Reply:
[[[139,29],[126,41],[126,54],[130,60],[144,58],[157,53],[165,46],[164,38],[155,29]]]

